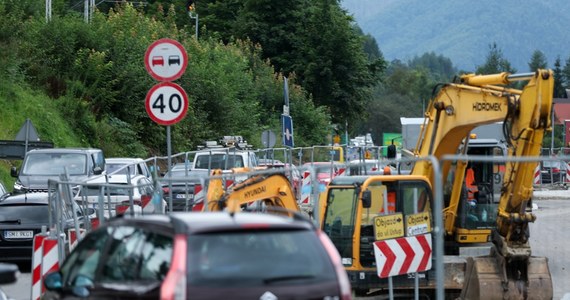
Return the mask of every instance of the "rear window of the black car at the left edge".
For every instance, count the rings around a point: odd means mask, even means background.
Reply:
[[[47,205],[2,205],[0,206],[0,223],[8,224],[48,224]]]

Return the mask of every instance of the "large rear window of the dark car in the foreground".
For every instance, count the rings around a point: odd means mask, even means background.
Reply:
[[[336,280],[314,232],[240,231],[191,235],[190,286],[263,286]]]

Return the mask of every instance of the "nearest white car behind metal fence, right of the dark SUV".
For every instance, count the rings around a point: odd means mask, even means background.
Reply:
[[[99,211],[105,218],[129,213],[131,195],[135,214],[163,214],[167,203],[162,191],[155,189],[152,180],[144,175],[113,174],[99,176],[83,184],[75,200]]]

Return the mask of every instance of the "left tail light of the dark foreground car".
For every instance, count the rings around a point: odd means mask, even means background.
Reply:
[[[170,270],[160,287],[161,300],[186,299],[186,256],[186,236],[178,234],[174,238]]]

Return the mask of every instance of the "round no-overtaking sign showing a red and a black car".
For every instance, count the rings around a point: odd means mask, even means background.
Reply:
[[[188,54],[179,42],[160,39],[152,43],[144,55],[144,66],[150,76],[158,81],[180,78],[188,65]]]

